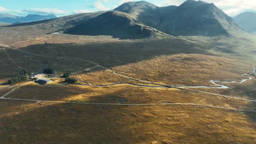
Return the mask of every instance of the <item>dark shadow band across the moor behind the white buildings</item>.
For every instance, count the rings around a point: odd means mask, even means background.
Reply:
[[[44,67],[53,67],[56,70],[63,71],[63,69],[74,68],[81,70],[94,67],[95,65],[85,61],[59,57],[87,59],[103,67],[112,68],[163,55],[176,55],[179,53],[213,55],[208,51],[210,48],[211,46],[207,44],[191,43],[183,39],[170,39],[98,44],[42,44],[22,48],[22,50],[27,52],[51,57],[34,56],[12,49],[7,51],[13,61],[24,69],[39,71]],[[30,65],[33,67],[30,68]],[[8,70],[8,68],[3,69]],[[7,75],[10,75],[10,73],[7,73]]]

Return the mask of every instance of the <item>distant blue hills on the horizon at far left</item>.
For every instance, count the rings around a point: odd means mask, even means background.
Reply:
[[[25,17],[19,17],[10,14],[0,14],[0,22],[4,23],[21,23],[21,22],[33,22],[40,20],[48,20],[56,18],[55,15],[34,15],[30,14]]]

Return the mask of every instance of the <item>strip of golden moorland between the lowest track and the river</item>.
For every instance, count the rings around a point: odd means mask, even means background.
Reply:
[[[148,88],[129,85],[107,87],[40,86],[30,82],[15,89],[5,98],[112,104],[193,103],[230,109],[254,110],[253,103],[248,101],[222,98],[176,88]]]

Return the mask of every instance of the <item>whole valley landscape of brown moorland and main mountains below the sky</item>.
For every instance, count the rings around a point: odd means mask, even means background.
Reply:
[[[256,37],[214,4],[128,2],[0,37],[0,143],[255,143]]]

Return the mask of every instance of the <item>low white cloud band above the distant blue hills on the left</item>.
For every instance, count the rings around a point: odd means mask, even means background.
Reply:
[[[30,14],[42,14],[42,15],[68,15],[69,11],[59,10],[59,9],[41,9],[41,8],[32,8],[21,10],[25,13]]]

